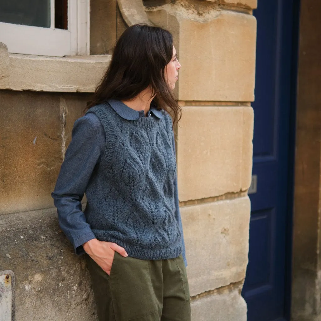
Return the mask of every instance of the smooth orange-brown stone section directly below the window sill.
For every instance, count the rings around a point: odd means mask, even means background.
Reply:
[[[0,91],[0,214],[53,206],[74,121],[87,94]]]

